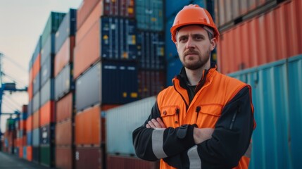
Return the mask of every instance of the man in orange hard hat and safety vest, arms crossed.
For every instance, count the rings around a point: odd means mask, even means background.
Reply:
[[[139,158],[163,168],[248,168],[251,87],[210,63],[219,32],[206,9],[184,6],[171,27],[184,67],[158,94],[151,115],[133,132]]]

